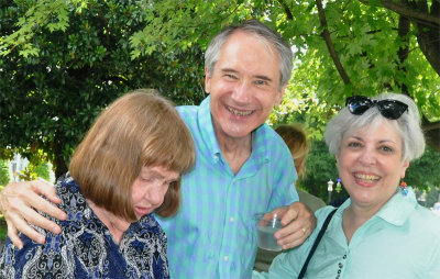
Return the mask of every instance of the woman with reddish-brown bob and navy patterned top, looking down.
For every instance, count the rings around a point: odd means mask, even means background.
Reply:
[[[114,101],[76,148],[55,188],[67,213],[46,242],[8,238],[0,278],[169,278],[166,217],[180,201],[180,175],[195,163],[193,138],[173,103],[148,90]]]

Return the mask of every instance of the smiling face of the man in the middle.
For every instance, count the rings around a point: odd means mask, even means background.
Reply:
[[[213,72],[205,69],[219,141],[249,137],[279,104],[279,63],[276,48],[255,35],[239,31],[229,37]]]

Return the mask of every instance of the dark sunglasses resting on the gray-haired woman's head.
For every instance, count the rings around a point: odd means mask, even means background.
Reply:
[[[366,110],[376,105],[384,118],[396,120],[408,110],[408,104],[397,100],[372,100],[364,96],[349,97],[345,100],[345,105],[349,111],[355,115],[364,114]]]

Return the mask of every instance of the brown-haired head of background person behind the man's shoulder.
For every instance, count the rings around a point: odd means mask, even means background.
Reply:
[[[275,129],[275,132],[284,140],[294,157],[294,164],[298,175],[305,174],[304,165],[310,144],[307,138],[306,129],[299,123],[284,124]]]

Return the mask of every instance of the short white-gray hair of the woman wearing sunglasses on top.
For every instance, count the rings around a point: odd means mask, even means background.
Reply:
[[[327,125],[324,140],[331,154],[339,154],[341,142],[345,135],[370,127],[380,121],[386,120],[398,131],[403,142],[403,159],[413,160],[420,157],[425,152],[425,137],[420,127],[420,114],[417,104],[405,94],[382,93],[372,100],[392,99],[408,104],[408,111],[404,112],[397,120],[385,119],[374,105],[362,115],[352,114],[349,109],[343,108]]]

